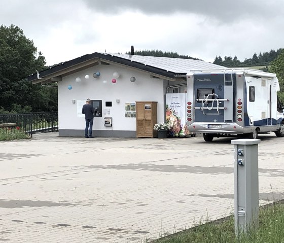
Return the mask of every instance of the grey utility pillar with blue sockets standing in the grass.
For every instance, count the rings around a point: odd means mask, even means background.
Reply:
[[[259,139],[232,140],[234,145],[235,234],[258,225]]]

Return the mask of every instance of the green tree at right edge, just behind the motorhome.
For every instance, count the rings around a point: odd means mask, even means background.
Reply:
[[[282,49],[278,57],[271,62],[269,72],[276,74],[280,85],[279,98],[284,102],[284,49]]]

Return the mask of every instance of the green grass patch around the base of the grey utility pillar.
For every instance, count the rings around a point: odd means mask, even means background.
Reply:
[[[250,229],[246,234],[238,238],[234,231],[234,217],[225,220],[207,223],[199,222],[199,226],[174,233],[157,239],[155,243],[253,243],[284,242],[284,204],[275,202],[269,206],[261,207],[259,212],[259,227]]]

